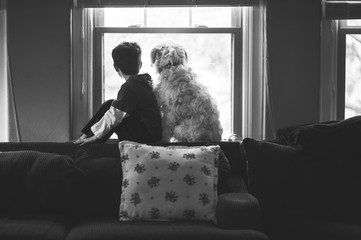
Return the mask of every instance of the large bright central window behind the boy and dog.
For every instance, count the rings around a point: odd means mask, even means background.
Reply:
[[[94,93],[96,105],[115,98],[122,84],[111,58],[111,51],[117,44],[121,41],[139,43],[143,51],[141,72],[149,73],[156,84],[157,76],[151,68],[150,51],[157,43],[172,39],[186,48],[189,65],[197,74],[198,81],[207,86],[216,100],[223,138],[228,138],[233,133],[233,121],[230,121],[233,119],[232,109],[241,108],[240,103],[233,106],[232,102],[233,79],[240,79],[240,73],[233,69],[233,64],[241,66],[240,59],[234,57],[236,52],[240,52],[240,44],[234,43],[241,42],[240,28],[232,28],[232,18],[239,19],[238,15],[241,14],[236,10],[232,7],[94,9],[97,16],[94,44],[98,49],[95,52],[94,70],[96,79],[102,79],[99,82],[101,85],[96,85],[96,89],[101,91]],[[137,17],[132,18],[134,15]]]

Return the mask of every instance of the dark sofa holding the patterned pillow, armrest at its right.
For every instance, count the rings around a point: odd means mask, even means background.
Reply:
[[[258,200],[248,193],[240,143],[148,144],[175,145],[218,145],[228,161],[228,170],[227,164],[218,168],[214,221],[120,221],[126,159],[118,142],[0,143],[0,239],[267,240]]]

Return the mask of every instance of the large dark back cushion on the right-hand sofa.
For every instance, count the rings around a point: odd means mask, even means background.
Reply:
[[[243,141],[249,188],[272,214],[361,214],[361,156],[354,143],[313,149],[269,141]],[[348,155],[349,154],[349,155]]]

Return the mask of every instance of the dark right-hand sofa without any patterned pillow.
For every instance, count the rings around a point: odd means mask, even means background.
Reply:
[[[270,239],[361,239],[361,116],[242,142]]]

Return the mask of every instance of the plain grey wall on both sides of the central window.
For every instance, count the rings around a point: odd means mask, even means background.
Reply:
[[[267,4],[274,127],[317,122],[321,0]],[[8,0],[8,45],[22,141],[69,140],[69,9],[70,0]]]

